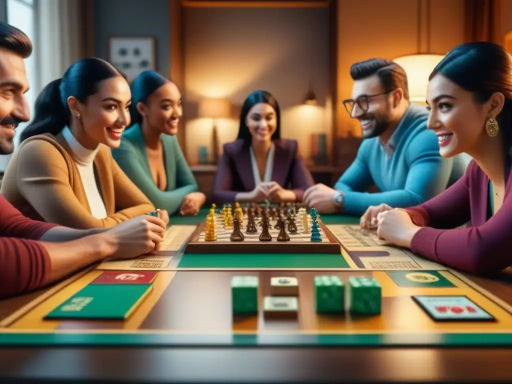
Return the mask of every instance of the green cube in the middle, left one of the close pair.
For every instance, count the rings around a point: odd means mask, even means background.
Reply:
[[[345,289],[342,279],[335,275],[315,276],[316,313],[343,313]]]

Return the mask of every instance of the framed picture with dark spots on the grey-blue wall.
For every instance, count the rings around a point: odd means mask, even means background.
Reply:
[[[132,81],[141,72],[156,71],[155,38],[111,37],[109,61]]]

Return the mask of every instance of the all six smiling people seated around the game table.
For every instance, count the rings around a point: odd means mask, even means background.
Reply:
[[[197,215],[207,199],[176,138],[173,81],[146,71],[129,84],[111,63],[85,58],[42,90],[31,119],[31,53],[27,35],[0,22],[0,153],[13,154],[0,190],[0,297],[157,252],[169,216]],[[350,74],[343,104],[364,140],[333,187],[314,183],[297,142],[281,138],[278,102],[256,91],[224,145],[211,200],[302,202],[360,216],[362,228],[453,268],[510,266],[510,54],[490,42],[454,48],[430,75],[427,108],[410,102],[392,61],[358,62]],[[462,153],[473,158],[467,167]]]

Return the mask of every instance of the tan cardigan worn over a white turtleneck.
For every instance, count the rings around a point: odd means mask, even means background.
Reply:
[[[25,216],[70,228],[109,228],[155,207],[100,144],[94,171],[108,216],[95,218],[71,149],[58,134],[25,140],[7,166],[0,193]]]

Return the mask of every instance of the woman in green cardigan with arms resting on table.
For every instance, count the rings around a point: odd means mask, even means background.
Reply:
[[[154,71],[145,71],[131,89],[133,125],[112,151],[114,159],[157,208],[170,215],[197,215],[206,197],[198,191],[176,139],[182,116],[178,87]]]

